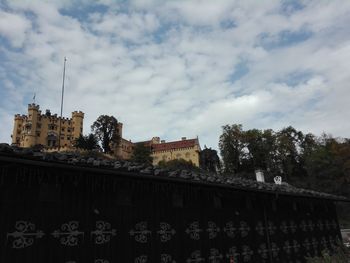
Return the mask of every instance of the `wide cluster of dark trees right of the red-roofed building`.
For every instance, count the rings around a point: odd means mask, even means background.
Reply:
[[[250,129],[233,124],[222,127],[219,149],[223,172],[254,175],[262,169],[272,181],[333,194],[350,195],[350,140],[323,134],[304,134],[292,126],[279,131]]]

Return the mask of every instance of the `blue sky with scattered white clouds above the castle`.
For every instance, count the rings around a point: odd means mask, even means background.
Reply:
[[[0,0],[0,142],[36,102],[133,141],[221,126],[350,137],[350,1]]]

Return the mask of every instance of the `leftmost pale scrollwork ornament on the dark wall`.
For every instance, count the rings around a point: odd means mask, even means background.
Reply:
[[[33,245],[34,238],[42,238],[45,234],[41,230],[35,230],[35,225],[27,221],[17,221],[15,224],[16,231],[7,233],[7,238],[12,237],[13,248],[25,248]]]

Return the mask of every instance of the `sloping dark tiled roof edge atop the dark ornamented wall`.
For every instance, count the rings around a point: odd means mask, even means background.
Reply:
[[[288,183],[277,185],[274,183],[257,182],[254,180],[223,177],[207,171],[168,170],[152,165],[134,163],[126,160],[116,160],[103,157],[99,153],[90,155],[81,152],[42,152],[32,148],[20,148],[0,143],[0,160],[9,162],[36,163],[43,166],[68,166],[69,168],[103,170],[104,173],[118,173],[125,176],[137,176],[149,179],[161,179],[171,182],[205,184],[214,187],[228,187],[243,191],[265,192],[270,194],[293,195],[330,199],[334,201],[350,202],[349,199],[317,192],[309,189],[294,187]],[[97,170],[96,170],[97,169]]]

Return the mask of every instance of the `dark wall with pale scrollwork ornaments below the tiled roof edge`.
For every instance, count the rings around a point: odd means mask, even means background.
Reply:
[[[0,262],[296,263],[340,238],[326,199],[0,165]]]

